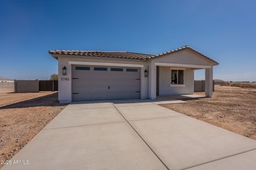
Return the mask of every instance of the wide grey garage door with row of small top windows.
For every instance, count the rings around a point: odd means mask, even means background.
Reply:
[[[140,97],[140,69],[72,66],[72,100],[131,99]]]

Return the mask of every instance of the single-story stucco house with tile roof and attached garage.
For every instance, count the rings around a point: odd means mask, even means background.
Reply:
[[[212,96],[213,66],[185,45],[157,55],[125,51],[49,51],[59,63],[59,101],[156,99],[194,92],[194,70],[205,69],[205,95]]]

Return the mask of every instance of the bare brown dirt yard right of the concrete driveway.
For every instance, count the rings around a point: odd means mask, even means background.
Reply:
[[[215,86],[213,97],[186,101],[162,106],[256,140],[255,88]]]

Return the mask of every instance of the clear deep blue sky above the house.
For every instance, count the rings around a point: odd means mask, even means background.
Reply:
[[[189,45],[214,79],[256,81],[256,1],[0,1],[0,76],[47,79],[48,50],[158,54]],[[195,79],[203,79],[196,71]]]

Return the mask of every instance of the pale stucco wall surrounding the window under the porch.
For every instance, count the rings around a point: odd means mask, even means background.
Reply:
[[[194,70],[184,70],[184,86],[171,86],[171,67],[159,67],[159,95],[184,95],[194,92]]]

